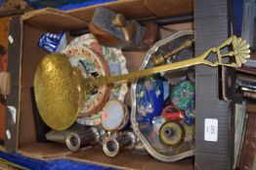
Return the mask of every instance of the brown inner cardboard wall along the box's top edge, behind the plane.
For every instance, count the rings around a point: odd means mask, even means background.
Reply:
[[[192,0],[119,0],[105,4],[60,11],[46,8],[26,13],[21,18],[26,23],[50,32],[88,27],[97,7],[103,6],[130,19],[169,17],[192,14]]]

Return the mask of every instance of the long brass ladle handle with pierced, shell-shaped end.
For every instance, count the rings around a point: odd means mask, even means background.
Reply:
[[[222,50],[225,48],[227,48],[228,52],[222,53]],[[216,61],[212,62],[207,59],[207,56],[210,53],[215,53],[217,55]],[[224,57],[230,57],[229,59],[231,61],[224,62],[223,61]],[[231,57],[235,57],[235,59],[232,60]],[[176,69],[198,65],[198,64],[205,64],[212,67],[215,67],[218,65],[229,66],[229,67],[240,67],[241,64],[245,63],[249,57],[250,57],[250,50],[249,50],[249,45],[246,43],[246,41],[241,38],[237,38],[236,36],[232,36],[228,40],[226,40],[221,46],[217,48],[208,49],[202,54],[191,59],[187,59],[184,61],[179,61],[171,64],[166,64],[162,66],[156,66],[156,67],[152,67],[145,70],[139,70],[133,73],[125,74],[125,75],[98,77],[96,79],[87,78],[84,80],[85,89],[87,91],[88,90],[90,91],[90,89],[93,89],[94,86],[101,86],[106,84],[113,84],[116,82],[129,81],[139,77],[149,76],[155,73],[159,73],[159,72],[176,70]]]

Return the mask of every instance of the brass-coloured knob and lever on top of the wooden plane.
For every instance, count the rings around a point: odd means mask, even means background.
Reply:
[[[126,18],[122,14],[117,14],[112,18],[111,23],[115,27],[121,28],[125,41],[132,42],[134,40],[136,31],[135,21],[126,21]]]

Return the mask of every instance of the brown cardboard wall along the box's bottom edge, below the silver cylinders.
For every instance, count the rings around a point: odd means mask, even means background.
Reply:
[[[99,146],[86,147],[71,153],[64,145],[54,143],[30,143],[21,146],[19,153],[38,159],[68,158],[76,161],[100,164],[119,169],[130,170],[193,170],[193,158],[189,157],[177,162],[161,162],[149,154],[121,151],[115,157],[108,157]]]

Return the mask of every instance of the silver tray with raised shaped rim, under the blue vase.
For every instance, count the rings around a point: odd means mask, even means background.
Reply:
[[[181,43],[181,41],[187,38],[192,38],[192,37],[193,37],[192,30],[183,30],[183,31],[176,32],[172,34],[170,37],[157,42],[147,52],[144,62],[140,67],[140,70],[144,70],[146,68],[151,67],[151,64],[149,61],[150,61],[150,58],[153,55],[155,55],[155,53],[158,53],[159,51],[160,52],[172,51],[177,44]],[[185,53],[186,51],[187,50],[185,50]],[[180,54],[184,54],[184,52],[180,52]],[[193,55],[192,52],[191,52],[191,55]],[[136,89],[138,88],[138,82],[140,81],[140,79],[135,80],[131,85],[131,97],[132,97],[131,123],[132,123],[132,128],[134,132],[139,137],[141,142],[144,144],[148,153],[152,155],[154,158],[161,161],[166,161],[166,162],[174,162],[174,161],[183,159],[185,157],[192,156],[194,154],[194,124],[188,125],[185,122],[181,122],[181,124],[185,127],[184,142],[178,147],[170,147],[161,143],[159,139],[159,135],[157,135],[159,125],[157,127],[157,124],[154,122],[145,123],[145,122],[138,121],[138,115],[139,115],[138,101],[136,101],[138,94],[136,92]]]

